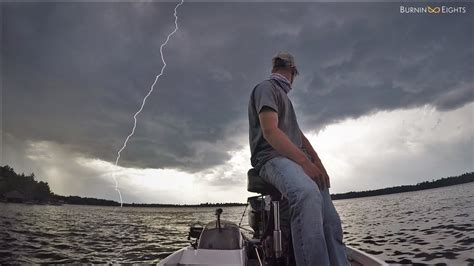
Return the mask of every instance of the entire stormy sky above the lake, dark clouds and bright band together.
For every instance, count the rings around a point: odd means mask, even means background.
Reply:
[[[125,202],[245,202],[249,94],[289,51],[331,193],[471,172],[474,5],[450,3],[185,1],[119,167],[176,2],[2,3],[1,164],[62,195],[118,200],[115,173]]]

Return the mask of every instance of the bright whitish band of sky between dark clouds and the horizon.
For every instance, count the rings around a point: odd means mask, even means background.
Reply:
[[[416,184],[473,171],[473,108],[382,111],[306,135],[331,176],[331,193]],[[115,172],[125,202],[185,204],[245,202],[252,195],[246,191],[250,152],[242,147],[230,151],[226,163],[196,173],[115,167],[51,142],[30,143],[27,152],[30,163],[42,166],[37,175],[58,194],[118,200]]]

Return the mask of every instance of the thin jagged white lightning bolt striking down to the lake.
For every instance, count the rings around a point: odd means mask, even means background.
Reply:
[[[128,140],[133,136],[133,134],[135,134],[135,128],[137,127],[137,116],[140,114],[140,112],[143,110],[143,107],[145,106],[145,103],[146,103],[146,100],[148,99],[148,97],[151,95],[151,93],[153,92],[153,90],[155,89],[155,85],[156,83],[158,82],[158,79],[163,75],[163,72],[166,68],[166,62],[165,62],[165,58],[163,57],[163,48],[165,47],[165,45],[168,43],[168,41],[170,40],[171,36],[173,36],[176,31],[178,30],[178,7],[180,7],[182,4],[183,4],[184,0],[181,0],[181,2],[179,2],[176,7],[174,8],[174,25],[175,25],[175,28],[174,30],[168,34],[168,37],[166,37],[166,41],[164,43],[161,44],[160,46],[160,54],[161,54],[161,61],[163,61],[163,67],[161,68],[161,72],[160,74],[158,74],[155,78],[155,82],[153,82],[153,85],[151,85],[151,88],[150,90],[148,91],[148,94],[145,96],[145,98],[143,98],[143,101],[142,101],[142,105],[140,106],[140,109],[138,109],[138,111],[135,113],[135,115],[133,116],[133,128],[132,128],[132,131],[130,132],[130,134],[127,136],[127,138],[125,139],[125,141],[123,142],[123,146],[122,148],[117,152],[117,159],[115,160],[115,166],[118,165],[118,161],[120,160],[120,155],[122,153],[123,150],[125,150],[125,148],[127,147],[127,143],[128,143]],[[122,193],[120,193],[120,189],[118,187],[118,182],[117,182],[117,178],[115,177],[115,172],[112,173],[112,177],[115,181],[115,191],[117,191],[117,193],[119,194],[119,197],[120,197],[120,207],[123,207],[123,200],[122,200]]]

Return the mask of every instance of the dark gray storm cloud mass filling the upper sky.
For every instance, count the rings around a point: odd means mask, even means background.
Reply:
[[[472,12],[472,4],[468,12]],[[3,131],[113,162],[162,63],[175,3],[2,4]],[[399,4],[185,3],[168,64],[121,165],[206,169],[247,134],[252,87],[294,53],[305,129],[376,110],[473,100],[472,14]]]

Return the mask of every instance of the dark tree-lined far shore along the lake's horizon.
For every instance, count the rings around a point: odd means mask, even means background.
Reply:
[[[36,176],[34,173],[31,173],[30,175],[25,175],[23,173],[17,174],[15,170],[8,165],[0,167],[0,201],[26,204],[120,206],[120,203],[113,200],[56,195],[51,191],[47,182],[38,182],[35,180],[35,178]],[[465,173],[460,176],[441,178],[433,181],[425,181],[416,185],[405,185],[368,191],[331,194],[331,198],[333,200],[338,200],[371,197],[452,186],[469,182],[474,182],[474,172]],[[232,207],[245,205],[246,203],[201,203],[190,205],[124,203],[124,206],[126,207]]]

